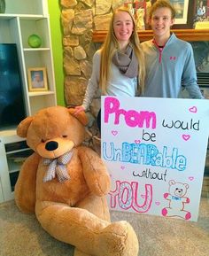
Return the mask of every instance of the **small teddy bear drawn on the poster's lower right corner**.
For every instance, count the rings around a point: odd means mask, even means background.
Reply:
[[[175,182],[171,180],[169,183],[169,193],[164,194],[164,198],[169,201],[169,206],[162,209],[162,215],[166,217],[180,217],[190,220],[191,214],[184,209],[185,204],[190,203],[190,198],[185,197],[189,185],[187,183]]]

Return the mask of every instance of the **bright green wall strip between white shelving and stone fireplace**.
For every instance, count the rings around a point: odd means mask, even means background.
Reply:
[[[58,105],[66,105],[64,96],[63,46],[59,0],[48,0],[48,6]]]

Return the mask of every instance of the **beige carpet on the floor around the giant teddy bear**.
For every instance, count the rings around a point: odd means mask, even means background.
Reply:
[[[139,256],[208,256],[209,199],[202,198],[197,222],[112,212],[112,221],[129,221],[139,237]],[[0,256],[72,256],[74,248],[50,237],[35,215],[0,204]]]

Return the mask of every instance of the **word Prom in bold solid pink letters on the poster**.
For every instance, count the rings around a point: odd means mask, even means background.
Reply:
[[[104,123],[109,122],[109,118],[113,118],[115,125],[120,124],[120,117],[125,120],[128,127],[135,128],[156,128],[155,112],[135,110],[125,110],[120,108],[120,101],[116,97],[105,97],[104,99]]]

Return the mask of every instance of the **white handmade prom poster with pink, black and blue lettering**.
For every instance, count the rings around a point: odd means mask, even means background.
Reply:
[[[101,121],[110,209],[197,221],[208,100],[102,97]]]

